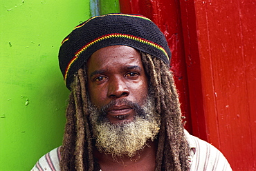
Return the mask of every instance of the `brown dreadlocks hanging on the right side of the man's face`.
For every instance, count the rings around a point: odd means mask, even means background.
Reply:
[[[155,92],[156,112],[161,115],[155,170],[188,170],[189,148],[172,72],[162,60],[143,52],[141,56]]]

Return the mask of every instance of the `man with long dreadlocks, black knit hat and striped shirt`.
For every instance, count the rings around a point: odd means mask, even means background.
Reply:
[[[71,90],[64,140],[33,170],[231,170],[184,130],[170,57],[163,33],[141,15],[77,26],[59,53]]]

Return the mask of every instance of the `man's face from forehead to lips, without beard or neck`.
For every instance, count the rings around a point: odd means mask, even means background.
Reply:
[[[134,119],[134,109],[123,99],[143,105],[147,99],[147,77],[140,53],[128,46],[109,46],[94,52],[87,63],[91,103],[107,109],[111,123]]]

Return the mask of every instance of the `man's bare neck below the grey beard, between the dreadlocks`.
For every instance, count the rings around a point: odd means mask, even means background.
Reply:
[[[143,150],[136,153],[134,157],[126,155],[113,158],[111,154],[100,153],[94,150],[93,154],[98,160],[102,171],[108,170],[154,170],[156,161],[156,142],[148,141]]]

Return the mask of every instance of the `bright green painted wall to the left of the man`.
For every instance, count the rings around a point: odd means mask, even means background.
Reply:
[[[30,170],[61,145],[68,90],[57,52],[89,0],[8,0],[0,6],[0,170]]]

